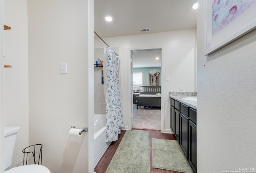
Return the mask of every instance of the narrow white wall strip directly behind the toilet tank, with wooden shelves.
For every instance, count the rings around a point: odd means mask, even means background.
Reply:
[[[27,0],[4,1],[4,126],[20,126],[11,167],[23,165],[28,147],[28,10]],[[10,167],[10,168],[11,168]]]

